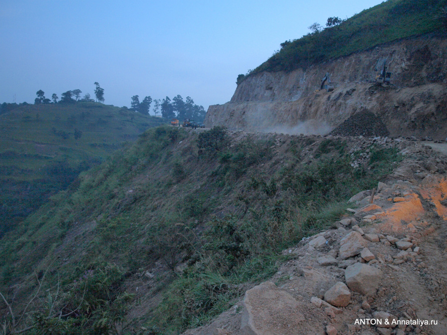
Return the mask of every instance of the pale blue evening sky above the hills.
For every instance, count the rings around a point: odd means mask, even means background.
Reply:
[[[329,16],[381,0],[0,0],[0,103],[80,89],[106,104],[180,94],[223,104],[236,77]]]

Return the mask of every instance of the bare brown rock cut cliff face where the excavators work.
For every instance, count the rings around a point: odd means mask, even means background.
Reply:
[[[391,85],[375,83],[386,60]],[[325,73],[335,89],[318,90]],[[261,72],[231,100],[208,109],[208,127],[327,134],[359,112],[379,117],[391,136],[447,136],[447,39],[425,35],[376,46],[306,69]]]

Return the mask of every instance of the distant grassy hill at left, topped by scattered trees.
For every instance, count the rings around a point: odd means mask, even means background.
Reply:
[[[0,115],[0,236],[163,120],[94,102],[20,105]]]

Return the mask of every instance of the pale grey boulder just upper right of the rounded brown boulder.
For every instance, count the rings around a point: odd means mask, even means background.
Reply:
[[[375,294],[381,278],[381,270],[366,264],[356,263],[345,269],[345,280],[348,287],[365,295]]]

